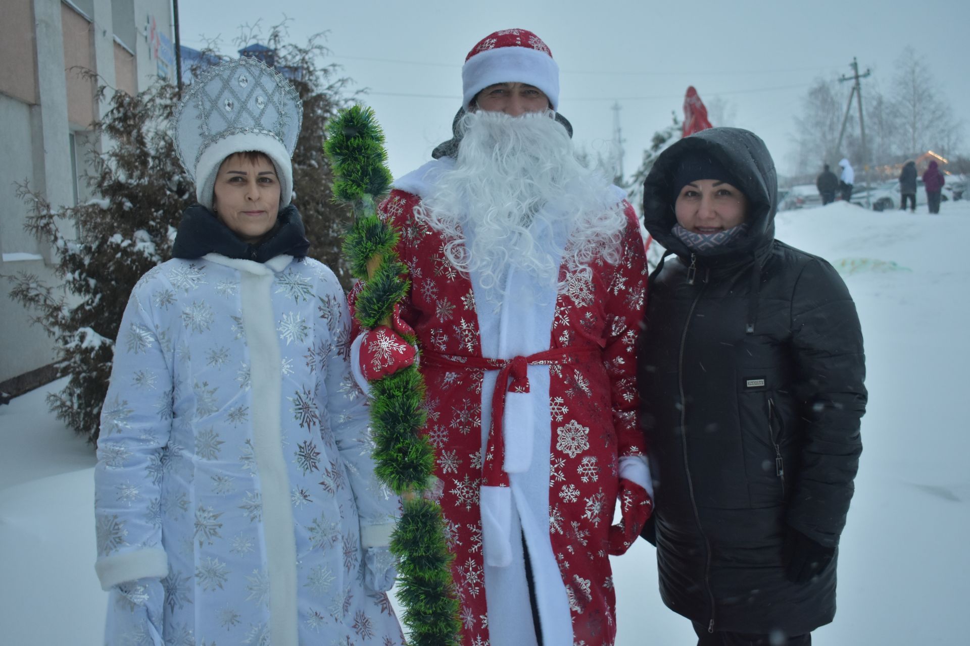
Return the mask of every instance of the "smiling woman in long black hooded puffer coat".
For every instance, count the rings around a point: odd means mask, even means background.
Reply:
[[[698,645],[811,643],[862,446],[862,334],[842,279],[774,238],[777,175],[753,133],[713,128],[644,182],[651,274],[637,378],[656,491],[641,536]]]

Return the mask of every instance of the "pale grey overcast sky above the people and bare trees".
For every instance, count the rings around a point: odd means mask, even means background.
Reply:
[[[469,49],[498,29],[521,27],[550,47],[561,70],[560,111],[577,143],[607,154],[618,101],[625,171],[639,165],[654,132],[682,115],[694,85],[708,105],[720,101],[731,125],[765,140],[782,173],[790,171],[792,117],[817,77],[872,70],[866,87],[888,87],[893,63],[913,46],[931,65],[955,114],[967,122],[970,149],[970,2],[593,2],[560,0],[212,0],[179,3],[182,44],[221,38],[235,53],[239,25],[289,23],[291,40],[329,31],[332,62],[376,110],[395,176],[430,159],[448,138],[461,105],[461,66]],[[855,112],[854,112],[855,114]],[[712,119],[713,121],[714,119]]]

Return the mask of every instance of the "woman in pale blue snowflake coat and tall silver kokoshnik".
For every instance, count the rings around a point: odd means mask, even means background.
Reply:
[[[199,201],[135,286],[95,470],[106,644],[403,644],[398,501],[373,475],[334,273],[307,258],[302,107],[242,58],[176,114]]]

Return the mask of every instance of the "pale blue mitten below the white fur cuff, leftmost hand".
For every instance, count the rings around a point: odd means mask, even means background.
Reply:
[[[164,646],[164,602],[165,589],[156,578],[127,581],[114,586],[108,599],[105,645]]]

